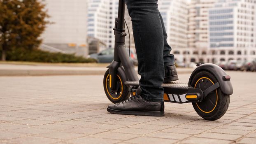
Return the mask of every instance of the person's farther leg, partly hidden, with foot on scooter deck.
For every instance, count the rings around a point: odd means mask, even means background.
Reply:
[[[161,24],[163,27],[163,62],[165,66],[165,77],[163,82],[170,82],[170,81],[176,81],[178,80],[178,74],[175,67],[175,59],[174,55],[170,54],[170,51],[172,50],[171,46],[167,43],[167,33],[165,30],[163,18],[161,16],[161,13],[159,12],[159,16],[161,19]]]

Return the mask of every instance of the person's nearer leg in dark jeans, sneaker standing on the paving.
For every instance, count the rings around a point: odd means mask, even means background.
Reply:
[[[109,105],[114,114],[164,116],[163,27],[157,0],[126,0],[133,24],[133,37],[141,76],[142,93],[124,102]]]

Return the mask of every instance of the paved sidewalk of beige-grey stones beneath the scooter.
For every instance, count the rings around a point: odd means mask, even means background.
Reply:
[[[0,143],[255,144],[256,73],[228,74],[234,94],[217,121],[191,104],[165,103],[163,117],[109,114],[102,75],[0,77]]]

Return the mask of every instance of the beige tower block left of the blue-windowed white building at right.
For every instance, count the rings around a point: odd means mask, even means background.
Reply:
[[[206,63],[208,47],[209,8],[217,0],[191,0],[188,5],[188,47],[174,49],[175,57],[183,59],[186,65],[191,62]]]

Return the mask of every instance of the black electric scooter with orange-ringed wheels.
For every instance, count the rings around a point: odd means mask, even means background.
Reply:
[[[105,94],[113,103],[141,93],[137,72],[126,52],[124,12],[125,2],[119,0],[118,18],[114,27],[114,60],[107,66],[103,79]],[[180,104],[191,102],[199,116],[206,120],[217,120],[226,113],[230,95],[233,94],[230,76],[215,64],[199,63],[197,66],[188,84],[180,82],[162,84],[164,101]]]

